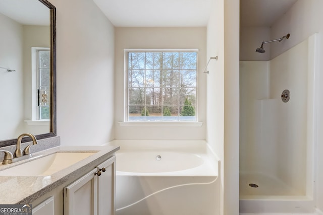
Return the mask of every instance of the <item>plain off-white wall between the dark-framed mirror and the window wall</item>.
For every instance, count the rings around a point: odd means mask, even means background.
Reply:
[[[114,26],[91,0],[57,8],[57,131],[62,145],[114,139]]]

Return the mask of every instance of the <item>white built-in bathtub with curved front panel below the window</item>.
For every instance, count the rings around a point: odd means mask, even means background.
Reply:
[[[117,215],[217,215],[219,161],[205,141],[114,140]]]

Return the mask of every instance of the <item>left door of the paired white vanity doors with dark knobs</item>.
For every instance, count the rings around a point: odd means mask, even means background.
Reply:
[[[97,215],[97,169],[64,188],[64,215]]]

